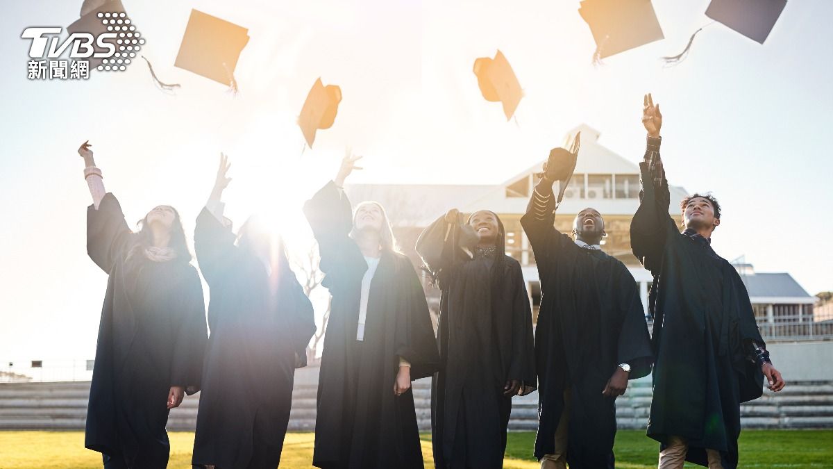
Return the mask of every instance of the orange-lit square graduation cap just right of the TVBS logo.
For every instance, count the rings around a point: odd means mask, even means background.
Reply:
[[[234,68],[248,42],[247,28],[192,9],[174,66],[237,91]]]

